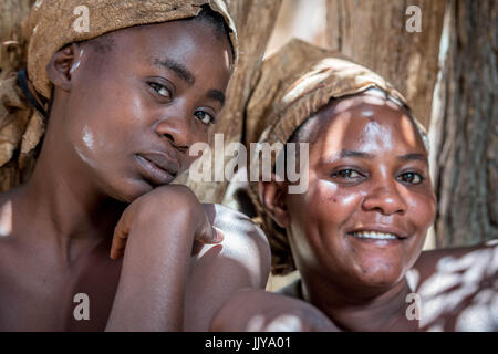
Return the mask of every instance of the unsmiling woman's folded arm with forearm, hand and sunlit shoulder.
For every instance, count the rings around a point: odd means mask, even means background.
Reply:
[[[270,248],[251,220],[224,206],[201,206],[183,186],[149,195],[116,227],[113,258],[126,249],[108,331],[207,331],[236,291],[264,288]],[[222,230],[222,242],[211,225]]]

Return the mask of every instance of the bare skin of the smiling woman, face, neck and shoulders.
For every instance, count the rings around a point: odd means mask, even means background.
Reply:
[[[489,313],[498,300],[492,290],[497,269],[491,266],[496,248],[422,252],[436,198],[427,153],[406,112],[366,92],[340,100],[310,122],[304,129],[317,133],[308,134],[313,136],[308,191],[291,195],[288,183],[260,183],[267,211],[290,231],[301,274],[301,282],[287,292],[301,293],[305,302],[262,291],[240,292],[220,311],[214,329],[248,329],[260,314],[266,321],[253,330],[268,330],[289,314],[295,320],[294,331],[455,331],[468,330],[464,316],[459,319],[464,312],[467,317],[481,309]],[[470,270],[468,261],[478,264],[480,257],[486,268]],[[414,291],[422,299],[421,321],[406,315],[413,303],[406,301],[413,292],[405,278],[408,270],[418,279]],[[435,291],[455,277],[461,280]],[[241,303],[249,309],[247,316],[235,316]],[[267,316],[277,304],[278,313]],[[227,316],[230,310],[232,322]],[[295,315],[300,311],[308,319]],[[484,330],[492,331],[492,324]]]

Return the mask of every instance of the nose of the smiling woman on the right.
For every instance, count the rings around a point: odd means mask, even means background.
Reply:
[[[396,181],[381,183],[370,190],[363,199],[363,209],[366,211],[378,211],[390,216],[394,214],[404,215],[407,205],[400,194]]]

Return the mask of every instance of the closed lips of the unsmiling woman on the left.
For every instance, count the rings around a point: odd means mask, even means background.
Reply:
[[[178,174],[178,165],[162,154],[135,154],[142,175],[153,185],[167,185]]]

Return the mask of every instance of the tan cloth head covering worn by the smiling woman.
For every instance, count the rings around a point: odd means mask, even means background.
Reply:
[[[292,133],[331,98],[373,87],[382,90],[391,100],[409,111],[402,94],[374,72],[336,52],[293,40],[262,65],[260,80],[247,107],[246,143],[284,145]],[[415,118],[414,122],[427,148],[425,129]],[[258,212],[257,221],[262,225],[270,240],[272,272],[292,271],[294,266],[288,237],[264,212],[257,183],[249,185],[249,195]]]

